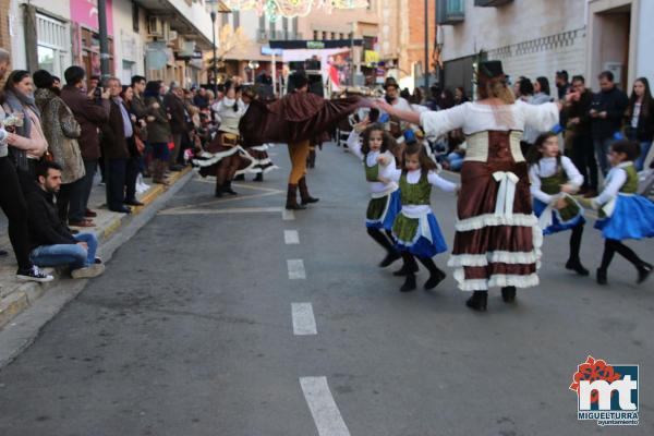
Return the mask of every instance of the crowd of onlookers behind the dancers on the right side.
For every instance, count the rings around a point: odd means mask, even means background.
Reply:
[[[643,170],[654,138],[654,99],[646,77],[634,81],[631,95],[621,90],[615,83],[611,72],[600,74],[600,89],[594,93],[586,86],[582,75],[569,77],[567,71],[556,73],[553,89],[547,77],[518,77],[513,82],[513,94],[530,105],[542,105],[548,101],[566,102],[560,117],[557,133],[564,136],[566,155],[568,155],[584,177],[582,193],[595,196],[600,189],[598,173],[606,175],[609,166],[607,154],[609,144],[620,137],[638,142],[641,155],[635,167]],[[469,101],[465,90],[457,87],[449,89],[431,88],[428,98],[423,98],[421,89],[413,94],[402,90],[404,98],[412,105],[420,105],[429,110],[449,109]],[[522,138],[522,148],[526,150],[543,132],[526,130]],[[432,148],[438,161],[453,171],[460,170],[465,157],[465,137],[462,132],[453,131],[434,138]]]

